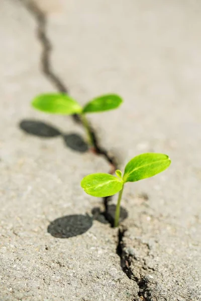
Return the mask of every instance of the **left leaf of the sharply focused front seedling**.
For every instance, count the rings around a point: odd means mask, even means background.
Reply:
[[[83,190],[93,197],[108,197],[122,189],[123,182],[109,174],[91,174],[81,181]]]

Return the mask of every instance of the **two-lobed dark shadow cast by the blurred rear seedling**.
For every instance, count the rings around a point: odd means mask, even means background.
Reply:
[[[67,147],[79,153],[88,150],[87,143],[76,133],[63,134],[56,127],[38,120],[24,119],[19,123],[19,127],[26,133],[42,138],[53,138],[61,136]]]

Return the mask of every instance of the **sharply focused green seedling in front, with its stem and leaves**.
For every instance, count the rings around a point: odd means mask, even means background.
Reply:
[[[116,170],[117,177],[104,173],[91,174],[82,179],[81,187],[87,194],[94,197],[108,197],[119,192],[114,222],[114,226],[117,227],[119,225],[120,204],[125,183],[153,177],[166,170],[170,163],[171,161],[167,155],[156,153],[142,154],[129,161],[125,167],[123,177],[120,170]]]

